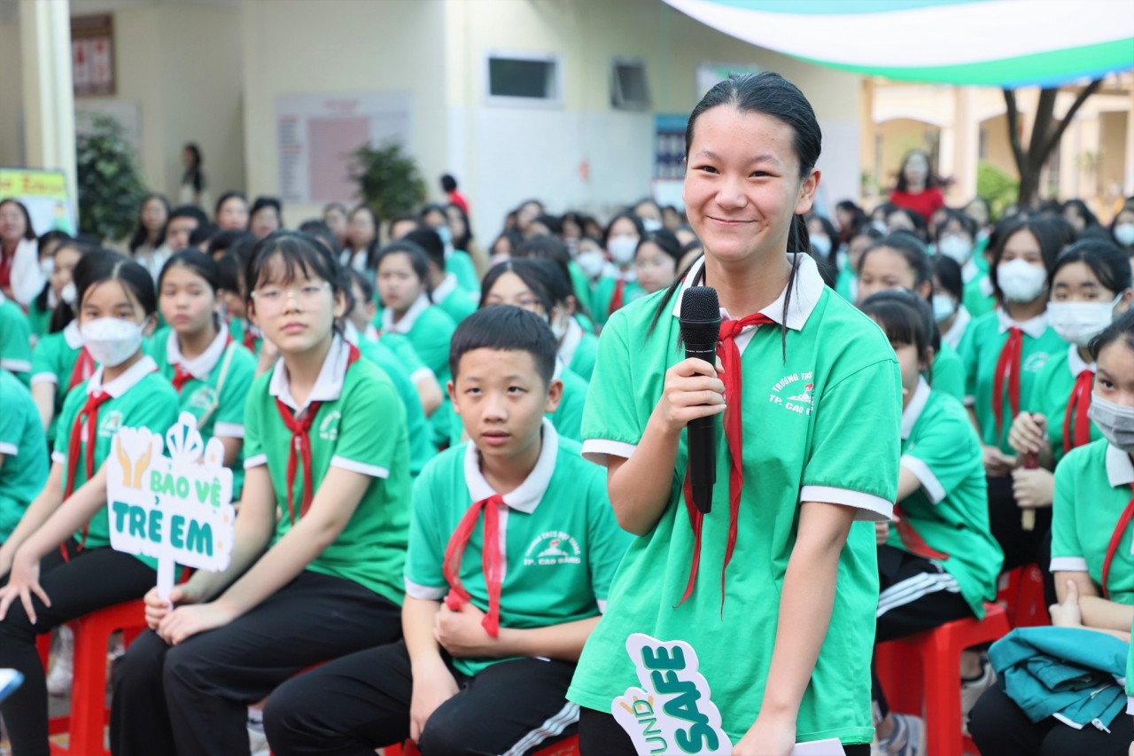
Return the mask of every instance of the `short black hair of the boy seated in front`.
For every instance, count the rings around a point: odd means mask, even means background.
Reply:
[[[474,350],[527,352],[544,386],[556,372],[559,345],[547,320],[519,308],[499,306],[477,310],[465,318],[449,342],[449,371],[457,379],[460,358]]]

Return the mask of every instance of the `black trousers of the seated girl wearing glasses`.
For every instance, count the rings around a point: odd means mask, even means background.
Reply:
[[[247,756],[247,706],[312,664],[401,635],[397,604],[304,571],[231,623],[170,647],[145,632],[115,663],[111,751]]]

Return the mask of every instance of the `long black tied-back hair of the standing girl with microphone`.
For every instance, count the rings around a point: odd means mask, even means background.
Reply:
[[[760,112],[789,126],[792,128],[792,151],[799,161],[799,178],[806,178],[811,174],[823,145],[823,134],[819,128],[819,119],[815,118],[814,109],[799,87],[779,74],[769,70],[760,74],[734,74],[727,79],[718,82],[701,98],[701,102],[689,114],[689,123],[685,127],[686,162],[693,146],[697,119],[706,110],[719,106],[731,106],[739,112]],[[798,284],[799,253],[805,254],[810,249],[811,238],[807,236],[807,221],[797,213],[792,219],[787,236],[787,251],[796,254],[792,258],[792,272],[788,276],[787,292],[784,295],[785,324],[787,322],[788,305],[792,303],[792,289]],[[666,295],[659,300],[658,310],[650,324],[650,331],[658,325],[662,312],[670,306],[669,301],[680,288],[684,278],[684,274],[678,276],[672,285],[666,289]],[[780,338],[784,359],[787,360],[786,325],[780,327]]]

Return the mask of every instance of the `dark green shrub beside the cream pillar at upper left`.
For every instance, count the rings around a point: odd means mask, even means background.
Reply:
[[[75,142],[75,160],[79,229],[103,240],[125,238],[134,230],[146,190],[121,125],[95,116],[91,131]]]

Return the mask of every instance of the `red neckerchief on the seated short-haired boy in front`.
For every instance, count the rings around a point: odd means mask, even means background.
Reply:
[[[500,510],[505,506],[508,505],[500,494],[473,502],[449,537],[449,543],[445,547],[445,562],[441,565],[445,580],[449,583],[445,605],[458,612],[462,605],[472,598],[460,582],[460,560],[483,510],[484,543],[481,545],[481,565],[484,570],[484,583],[489,589],[489,611],[484,614],[482,625],[493,638],[500,635],[500,583],[503,581],[503,562],[500,558]]]

